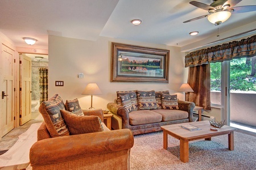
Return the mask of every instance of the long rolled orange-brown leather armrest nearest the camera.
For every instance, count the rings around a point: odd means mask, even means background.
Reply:
[[[133,147],[129,129],[70,135],[38,141],[30,148],[31,166],[42,166],[90,158]]]

